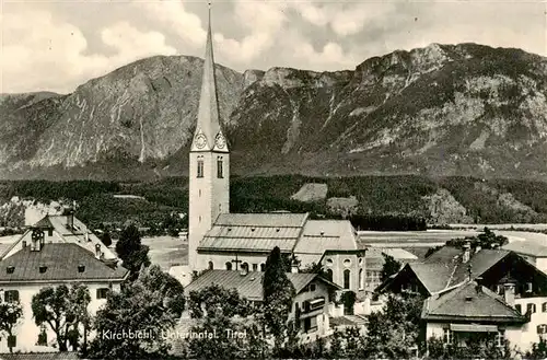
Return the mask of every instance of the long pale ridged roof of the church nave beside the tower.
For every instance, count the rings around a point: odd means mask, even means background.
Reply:
[[[307,213],[221,213],[198,251],[291,252]]]

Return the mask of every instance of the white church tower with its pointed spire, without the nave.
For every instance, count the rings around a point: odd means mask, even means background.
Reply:
[[[230,212],[230,152],[220,126],[210,4],[201,95],[189,156],[188,265],[191,270],[201,270],[205,265],[198,262],[197,247],[219,213]]]

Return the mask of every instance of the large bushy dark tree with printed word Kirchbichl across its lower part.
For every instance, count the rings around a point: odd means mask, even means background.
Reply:
[[[183,288],[173,280],[159,266],[150,266],[120,292],[108,292],[94,320],[97,336],[90,344],[88,358],[168,358],[170,344],[163,334],[173,329],[184,310]],[[113,334],[121,334],[123,339]]]

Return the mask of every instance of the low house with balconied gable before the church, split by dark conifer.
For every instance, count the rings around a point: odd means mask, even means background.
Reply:
[[[288,320],[295,320],[296,312],[300,313],[301,339],[310,341],[330,335],[329,313],[334,312],[335,305],[330,303],[329,292],[341,290],[340,287],[317,274],[288,272],[287,276],[296,291]],[[264,272],[260,271],[209,270],[187,286],[184,291],[185,295],[189,297],[191,291],[219,284],[225,289],[235,289],[240,297],[251,302],[261,303],[264,301],[263,277]]]

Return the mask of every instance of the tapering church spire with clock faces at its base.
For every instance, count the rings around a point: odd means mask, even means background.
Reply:
[[[214,76],[214,55],[212,50],[211,3],[209,2],[209,19],[207,26],[206,56],[203,60],[203,77],[199,97],[198,120],[193,151],[228,152],[228,144],[220,127],[219,101],[217,95],[217,79]],[[221,139],[219,139],[221,138]]]

